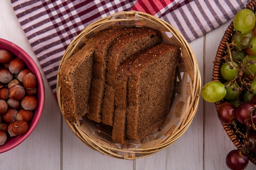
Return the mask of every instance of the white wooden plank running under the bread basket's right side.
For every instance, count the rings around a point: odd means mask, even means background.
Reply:
[[[198,59],[198,67],[203,70],[204,37],[190,43]],[[200,101],[195,117],[182,136],[164,150],[136,160],[138,170],[185,170],[203,169],[203,105]]]

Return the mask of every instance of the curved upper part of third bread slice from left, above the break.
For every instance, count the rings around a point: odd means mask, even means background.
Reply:
[[[116,84],[116,72],[119,65],[128,57],[139,52],[144,48],[152,48],[162,42],[162,36],[159,31],[141,27],[129,34],[120,36],[113,42],[107,56],[108,71],[106,81],[112,87]]]

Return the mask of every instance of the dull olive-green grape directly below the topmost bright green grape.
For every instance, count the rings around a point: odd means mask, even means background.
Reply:
[[[250,41],[253,39],[254,34],[253,31],[249,31],[244,34],[234,34],[232,40],[236,46],[236,49],[245,49],[250,45]]]

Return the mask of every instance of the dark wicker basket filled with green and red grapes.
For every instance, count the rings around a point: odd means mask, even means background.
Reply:
[[[230,23],[214,60],[212,82],[202,96],[214,102],[218,118],[237,149],[227,154],[232,170],[256,165],[256,0]]]

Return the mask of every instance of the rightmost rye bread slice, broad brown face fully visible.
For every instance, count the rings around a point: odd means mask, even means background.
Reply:
[[[161,125],[169,113],[180,49],[163,43],[141,55],[128,79],[126,136],[139,140]]]

